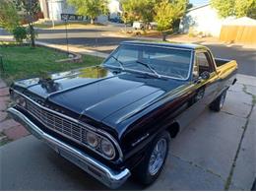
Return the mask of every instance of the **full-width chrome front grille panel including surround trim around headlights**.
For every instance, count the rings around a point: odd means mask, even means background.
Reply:
[[[36,118],[36,120],[38,120],[48,129],[53,130],[54,132],[57,132],[60,135],[63,135],[64,137],[69,138],[74,142],[93,150],[94,152],[96,152],[96,154],[107,160],[113,160],[117,158],[119,160],[123,159],[123,154],[119,144],[107,132],[104,132],[101,129],[96,129],[91,125],[80,122],[58,111],[52,110],[51,108],[48,108],[43,104],[33,100],[32,96],[25,96],[14,90],[12,90],[11,96],[13,98],[18,96],[18,98],[20,99],[21,97],[25,98],[25,104],[20,104],[19,102],[16,102],[16,100],[14,100],[16,106],[27,110],[33,117]],[[87,141],[88,133],[94,135],[97,140],[97,146],[92,146],[92,140],[89,139],[89,141]],[[114,148],[115,153],[112,157],[106,156],[101,149],[101,142],[104,140],[112,143],[113,145],[112,147]],[[116,151],[118,151],[118,154],[116,154]]]

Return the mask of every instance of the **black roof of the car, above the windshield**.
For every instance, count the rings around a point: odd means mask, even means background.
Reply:
[[[189,49],[189,50],[208,49],[206,46],[203,46],[200,44],[154,41],[154,40],[130,40],[130,41],[123,41],[120,44],[156,45],[161,47],[182,48],[182,49]]]

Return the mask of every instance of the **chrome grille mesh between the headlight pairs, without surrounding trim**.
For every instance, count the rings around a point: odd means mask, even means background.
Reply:
[[[87,130],[79,123],[72,122],[69,119],[40,108],[30,100],[27,100],[27,110],[45,127],[87,145],[85,139]]]

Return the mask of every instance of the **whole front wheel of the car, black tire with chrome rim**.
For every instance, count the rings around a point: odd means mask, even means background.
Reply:
[[[137,182],[143,185],[149,185],[158,178],[168,155],[169,141],[169,133],[167,131],[163,131],[150,144],[144,160],[142,160],[133,171],[133,177]],[[156,157],[157,146],[162,149],[162,153],[158,152],[159,154],[157,156],[159,158],[157,158],[156,160],[154,157]],[[155,162],[156,164],[153,162]]]

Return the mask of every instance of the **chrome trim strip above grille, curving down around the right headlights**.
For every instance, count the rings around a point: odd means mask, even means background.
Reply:
[[[12,90],[13,92],[15,92],[16,94],[18,94],[18,95],[20,95],[20,96],[24,96],[25,98],[29,99],[32,103],[34,103],[35,105],[37,105],[38,107],[40,107],[40,108],[42,108],[42,109],[44,109],[44,110],[47,110],[47,111],[49,111],[49,112],[52,112],[52,113],[54,113],[54,114],[56,114],[56,115],[59,115],[59,116],[61,116],[61,117],[63,117],[63,118],[69,119],[70,121],[73,121],[73,122],[75,122],[75,123],[78,123],[78,124],[80,124],[81,126],[84,126],[85,129],[89,129],[90,131],[93,131],[93,132],[95,132],[95,133],[98,133],[99,135],[102,135],[101,137],[106,137],[106,138],[107,138],[108,140],[110,140],[110,141],[114,144],[114,146],[116,147],[116,149],[117,149],[117,151],[118,151],[118,154],[119,154],[119,159],[120,159],[120,160],[123,160],[123,153],[122,153],[122,150],[121,150],[119,144],[117,143],[117,141],[116,141],[111,135],[107,134],[105,131],[102,131],[102,130],[100,130],[100,129],[96,129],[96,128],[93,127],[93,126],[91,126],[91,125],[89,125],[89,124],[86,124],[86,123],[84,123],[84,122],[81,122],[81,121],[79,121],[79,120],[77,120],[77,119],[74,119],[74,118],[72,118],[72,117],[70,117],[70,116],[67,116],[67,115],[65,115],[65,114],[59,113],[59,112],[54,111],[54,110],[51,110],[51,109],[49,109],[49,108],[46,108],[46,107],[44,107],[44,106],[38,104],[37,102],[33,101],[32,98],[30,98],[30,97],[28,97],[28,96],[25,96],[24,94],[22,94],[22,93],[20,93],[20,92],[18,92],[18,91],[16,91],[16,90],[13,90],[13,89],[11,89],[11,90]],[[28,111],[28,112],[29,112],[29,111]],[[33,116],[33,115],[32,115],[32,116]],[[55,131],[55,130],[54,130],[54,131]],[[66,136],[66,135],[65,135],[65,136]],[[82,143],[79,143],[79,144],[82,144]],[[89,148],[89,149],[90,149],[90,150],[93,150],[92,148]],[[105,158],[104,156],[102,156],[102,157]],[[107,160],[107,158],[106,158],[106,160]]]

